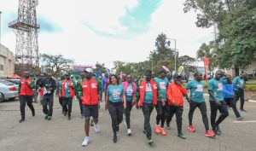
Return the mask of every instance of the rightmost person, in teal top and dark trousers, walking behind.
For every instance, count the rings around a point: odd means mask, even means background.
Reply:
[[[235,85],[235,94],[236,94],[236,102],[239,100],[240,97],[240,111],[247,112],[243,109],[244,105],[244,88],[245,88],[245,78],[247,77],[247,73],[241,73],[241,76],[237,76],[233,79],[232,83]]]

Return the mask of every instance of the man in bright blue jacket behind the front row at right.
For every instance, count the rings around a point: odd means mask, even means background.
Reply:
[[[230,107],[232,107],[234,113],[236,114],[236,119],[241,120],[243,119],[240,113],[236,109],[236,95],[235,95],[235,86],[232,83],[232,77],[229,74],[227,76],[227,83],[224,84],[224,101],[227,102]]]

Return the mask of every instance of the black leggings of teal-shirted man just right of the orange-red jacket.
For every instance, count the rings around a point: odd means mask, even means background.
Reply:
[[[209,130],[209,123],[207,118],[207,104],[206,102],[193,102],[191,101],[189,105],[189,125],[192,125],[193,113],[195,112],[195,108],[198,107],[201,112],[201,118],[205,125],[206,131]]]

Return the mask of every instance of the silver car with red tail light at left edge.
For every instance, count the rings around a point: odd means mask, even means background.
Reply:
[[[0,102],[5,100],[15,100],[18,97],[18,84],[0,80]]]

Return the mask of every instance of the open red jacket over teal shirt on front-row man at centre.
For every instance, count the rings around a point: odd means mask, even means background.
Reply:
[[[140,88],[139,88],[139,94],[140,94],[140,98],[139,98],[139,106],[143,106],[143,102],[144,102],[144,96],[145,96],[145,91],[146,91],[146,84],[147,84],[147,80],[143,80],[140,83]],[[152,88],[152,92],[153,92],[153,105],[157,104],[157,83],[151,79],[150,80],[150,84],[151,84],[151,88]]]

